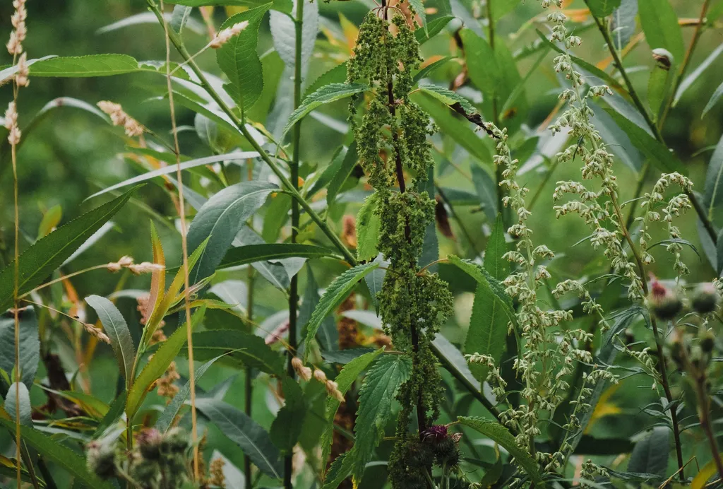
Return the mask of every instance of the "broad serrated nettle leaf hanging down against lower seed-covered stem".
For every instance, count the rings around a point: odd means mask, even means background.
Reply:
[[[402,355],[382,357],[369,370],[359,390],[354,447],[349,451],[354,485],[359,485],[372,452],[384,436],[397,391],[411,376],[411,360]]]

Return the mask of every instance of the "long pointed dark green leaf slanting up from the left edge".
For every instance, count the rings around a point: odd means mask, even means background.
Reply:
[[[100,226],[114,216],[135,189],[60,226],[43,239],[38,239],[20,255],[18,295],[22,296],[43,283],[56,268],[77,250]],[[12,305],[14,262],[0,271],[0,310]]]

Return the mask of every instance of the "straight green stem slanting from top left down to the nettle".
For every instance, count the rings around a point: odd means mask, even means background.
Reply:
[[[153,0],[147,1],[149,1],[150,9],[153,11],[155,16],[159,19],[162,19],[163,17],[161,16],[161,12],[158,10],[158,6],[153,4]],[[294,186],[294,184],[291,183],[291,180],[289,180],[288,177],[286,177],[286,174],[281,171],[281,169],[272,159],[272,156],[270,156],[269,153],[264,150],[264,148],[262,148],[256,140],[254,140],[251,133],[249,132],[249,129],[246,128],[244,122],[241,121],[241,119],[239,119],[239,116],[237,116],[236,113],[231,110],[228,104],[223,101],[221,95],[218,95],[218,93],[213,90],[213,87],[210,85],[208,79],[205,77],[201,69],[196,64],[196,61],[191,60],[191,55],[189,54],[184,44],[181,42],[178,35],[176,35],[173,30],[169,30],[168,35],[171,39],[171,43],[174,44],[176,50],[179,51],[179,54],[181,54],[181,57],[185,61],[188,61],[189,67],[194,72],[194,75],[196,75],[200,80],[200,84],[202,85],[202,87],[206,90],[208,95],[213,98],[213,101],[218,104],[221,111],[223,111],[223,113],[226,114],[231,119],[231,121],[234,122],[234,124],[236,124],[236,127],[238,127],[241,135],[248,140],[249,144],[252,146],[252,148],[254,148],[254,151],[257,151],[257,153],[259,153],[260,158],[264,161],[264,163],[269,166],[271,171],[273,171],[273,174],[275,174],[275,176],[281,181],[281,186],[284,188],[284,190],[286,190],[286,192],[288,192],[291,197],[294,197],[294,200],[299,203],[301,209],[303,209],[304,212],[309,215],[309,218],[311,218],[312,221],[314,221],[315,224],[319,226],[322,232],[326,234],[326,236],[330,239],[334,246],[337,247],[338,250],[342,253],[347,263],[349,263],[350,265],[356,265],[356,258],[354,258],[354,254],[352,254],[348,250],[348,248],[343,244],[343,242],[341,242],[341,239],[329,228],[329,226],[319,216],[319,214],[314,211],[314,209],[312,209],[311,205],[309,205],[309,203],[307,203],[307,201],[304,199],[304,196],[301,195],[299,190]]]

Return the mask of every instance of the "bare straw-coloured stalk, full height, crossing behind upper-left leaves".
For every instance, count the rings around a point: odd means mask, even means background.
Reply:
[[[160,5],[161,12],[163,12],[163,0],[160,1]],[[200,480],[200,471],[198,464],[198,431],[196,425],[196,383],[194,379],[195,372],[193,366],[191,299],[189,297],[189,290],[191,289],[191,284],[189,279],[188,242],[186,236],[186,205],[183,195],[183,178],[181,176],[181,149],[179,147],[178,127],[176,127],[176,106],[174,105],[174,89],[173,82],[171,81],[171,36],[169,35],[170,30],[168,29],[168,23],[166,22],[163,15],[161,15],[161,22],[163,22],[163,35],[166,38],[166,85],[168,88],[168,106],[171,111],[171,130],[174,135],[174,153],[176,154],[176,180],[178,180],[177,187],[179,190],[179,217],[181,218],[181,250],[183,252],[186,341],[188,343],[188,381],[191,388],[191,441],[193,443],[193,477],[194,480]]]

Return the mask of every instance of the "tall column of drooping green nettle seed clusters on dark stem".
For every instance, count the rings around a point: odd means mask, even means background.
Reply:
[[[420,61],[419,43],[405,18],[395,14],[388,22],[372,12],[360,27],[348,64],[348,81],[368,82],[372,88],[360,121],[355,114],[359,98],[351,102],[350,120],[361,165],[380,197],[375,211],[381,221],[379,250],[389,266],[379,312],[395,349],[409,355],[413,365],[398,394],[398,441],[390,457],[394,488],[427,487],[421,468],[436,460],[418,433],[410,433],[410,424],[415,411],[424,427],[439,416],[442,387],[430,343],[453,307],[448,285],[418,264],[424,233],[435,216],[435,201],[417,191],[434,164],[427,137],[435,132],[429,116],[409,99],[412,72]],[[404,182],[404,173],[411,175],[411,184]]]

